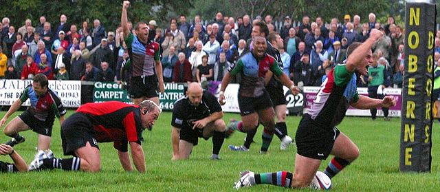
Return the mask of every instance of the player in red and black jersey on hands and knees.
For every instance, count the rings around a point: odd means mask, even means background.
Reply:
[[[33,169],[63,169],[72,171],[100,170],[98,142],[113,142],[118,150],[119,160],[126,171],[133,171],[128,153],[137,171],[144,173],[145,158],[142,149],[142,131],[154,125],[161,109],[151,100],[139,105],[129,105],[118,101],[87,103],[69,116],[61,127],[61,140],[65,155],[69,159],[42,158]]]

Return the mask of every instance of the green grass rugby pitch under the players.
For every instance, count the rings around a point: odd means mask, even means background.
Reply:
[[[14,116],[21,113],[17,112]],[[67,116],[72,114],[69,111]],[[0,112],[3,117],[5,111]],[[10,117],[12,120],[14,116]],[[235,191],[232,186],[239,178],[239,171],[250,169],[256,172],[293,171],[296,147],[287,151],[279,149],[280,140],[274,136],[269,153],[260,155],[261,131],[256,134],[256,143],[248,152],[230,151],[228,145],[242,145],[245,134],[235,133],[225,140],[220,152],[221,160],[208,160],[212,152],[211,140],[199,140],[190,160],[171,161],[170,112],[164,112],[155,123],[153,131],[144,131],[142,143],[146,155],[147,173],[126,173],[118,160],[118,153],[111,143],[100,144],[101,169],[99,173],[74,171],[42,171],[16,174],[0,174],[0,191]],[[239,119],[239,114],[225,114]],[[300,118],[287,117],[289,135],[294,138]],[[382,118],[347,117],[338,128],[347,134],[360,148],[361,155],[347,169],[333,178],[333,191],[438,191],[440,186],[440,132],[439,122],[432,130],[432,172],[399,172],[400,119],[385,122]],[[22,132],[26,142],[14,147],[26,162],[32,161],[36,153],[36,134]],[[0,134],[0,142],[10,138]],[[52,134],[52,151],[63,158],[60,126],[56,120]],[[68,158],[68,157],[66,157]],[[10,162],[5,156],[0,160]],[[327,166],[322,162],[320,170]],[[271,185],[254,186],[240,191],[285,191]],[[306,190],[307,191],[307,190]]]

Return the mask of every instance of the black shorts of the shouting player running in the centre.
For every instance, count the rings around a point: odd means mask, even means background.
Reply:
[[[241,116],[247,116],[254,113],[255,111],[267,109],[267,107],[272,106],[272,101],[270,100],[270,96],[266,90],[264,90],[264,94],[262,96],[256,98],[241,96],[239,94],[239,107]]]

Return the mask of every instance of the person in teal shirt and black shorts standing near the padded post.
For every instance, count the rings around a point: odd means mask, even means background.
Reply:
[[[374,55],[374,61],[370,65],[368,73],[369,73],[369,97],[370,98],[384,98],[384,94],[382,94],[382,90],[387,87],[385,85],[385,76],[386,76],[386,70],[384,65],[378,65],[378,58],[377,55]],[[378,91],[377,89],[380,89]],[[389,120],[388,118],[388,108],[382,107],[382,111],[384,111],[384,119]],[[371,118],[373,120],[376,119],[377,109],[370,109],[371,112]]]

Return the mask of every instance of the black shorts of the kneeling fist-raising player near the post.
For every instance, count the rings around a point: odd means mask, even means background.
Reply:
[[[297,153],[307,158],[325,160],[330,155],[340,131],[336,127],[322,125],[305,114],[296,130]]]

